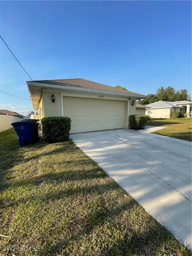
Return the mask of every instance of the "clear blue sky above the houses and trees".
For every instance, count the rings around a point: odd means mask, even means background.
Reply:
[[[83,78],[147,95],[191,93],[191,1],[0,1],[1,36],[33,80]],[[1,40],[1,90],[28,98],[23,71]],[[1,93],[0,109],[30,100]]]

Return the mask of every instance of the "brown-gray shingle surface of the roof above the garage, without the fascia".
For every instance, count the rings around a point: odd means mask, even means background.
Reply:
[[[52,85],[60,85],[66,87],[73,87],[73,88],[86,88],[92,90],[101,90],[101,91],[108,91],[108,92],[117,92],[117,93],[124,93],[124,94],[132,94],[138,96],[144,96],[147,98],[146,95],[139,94],[136,92],[125,91],[119,88],[115,88],[109,85],[96,83],[93,81],[89,81],[82,78],[75,78],[75,79],[56,79],[56,80],[36,80],[36,81],[28,81],[40,84],[52,84]]]

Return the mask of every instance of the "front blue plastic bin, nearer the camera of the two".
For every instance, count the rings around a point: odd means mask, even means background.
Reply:
[[[13,125],[16,131],[17,138],[21,146],[26,146],[35,142],[33,121],[19,121],[12,123],[11,125]]]

